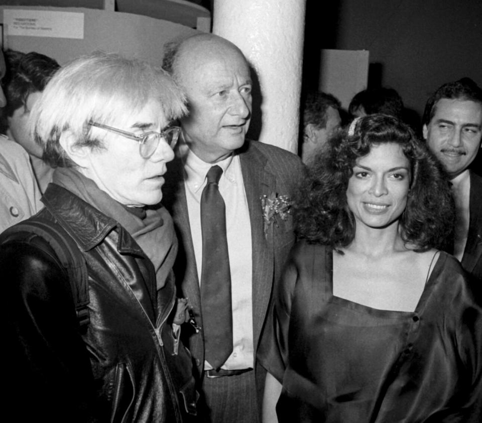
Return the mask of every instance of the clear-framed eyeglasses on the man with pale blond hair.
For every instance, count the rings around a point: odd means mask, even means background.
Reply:
[[[177,143],[177,139],[179,138],[179,132],[181,131],[181,128],[179,126],[171,126],[170,128],[167,128],[161,132],[149,131],[141,135],[136,135],[132,132],[127,132],[122,129],[117,129],[112,126],[104,125],[103,123],[89,122],[89,125],[95,126],[97,128],[102,128],[113,133],[117,133],[129,139],[134,139],[139,143],[139,154],[144,159],[149,159],[154,154],[154,152],[157,150],[157,147],[159,146],[161,138],[165,140],[165,142],[169,145],[169,147],[171,147],[171,149],[174,149]]]

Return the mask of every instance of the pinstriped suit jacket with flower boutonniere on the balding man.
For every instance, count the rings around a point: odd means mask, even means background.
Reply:
[[[253,342],[256,349],[274,281],[280,276],[288,253],[294,243],[291,215],[279,225],[270,225],[265,236],[261,197],[277,193],[293,198],[303,174],[301,160],[292,153],[259,142],[248,141],[238,152],[243,173],[248,209],[251,220],[253,256]],[[179,253],[174,266],[178,295],[189,298],[196,322],[202,327],[200,314],[199,280],[192,245],[191,230],[184,188],[182,160],[178,157],[168,163],[163,204],[173,216],[179,238]],[[204,336],[183,326],[183,339],[188,345],[199,375],[204,366]],[[198,376],[199,376],[198,375]],[[258,388],[263,376],[257,375]]]

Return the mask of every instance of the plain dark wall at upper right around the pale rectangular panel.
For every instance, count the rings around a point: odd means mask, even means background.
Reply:
[[[444,82],[482,86],[482,0],[307,0],[305,88],[317,87],[323,48],[369,50],[369,84],[421,114]]]

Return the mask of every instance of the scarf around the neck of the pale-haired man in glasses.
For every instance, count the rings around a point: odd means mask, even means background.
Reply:
[[[55,169],[52,182],[69,190],[125,228],[154,264],[157,289],[164,286],[177,253],[172,218],[164,207],[148,208],[145,217],[140,218],[73,168]]]

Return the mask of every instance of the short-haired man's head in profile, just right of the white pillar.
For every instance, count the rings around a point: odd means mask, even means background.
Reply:
[[[307,164],[340,125],[340,101],[324,92],[308,92],[302,100],[303,144],[301,160]]]

